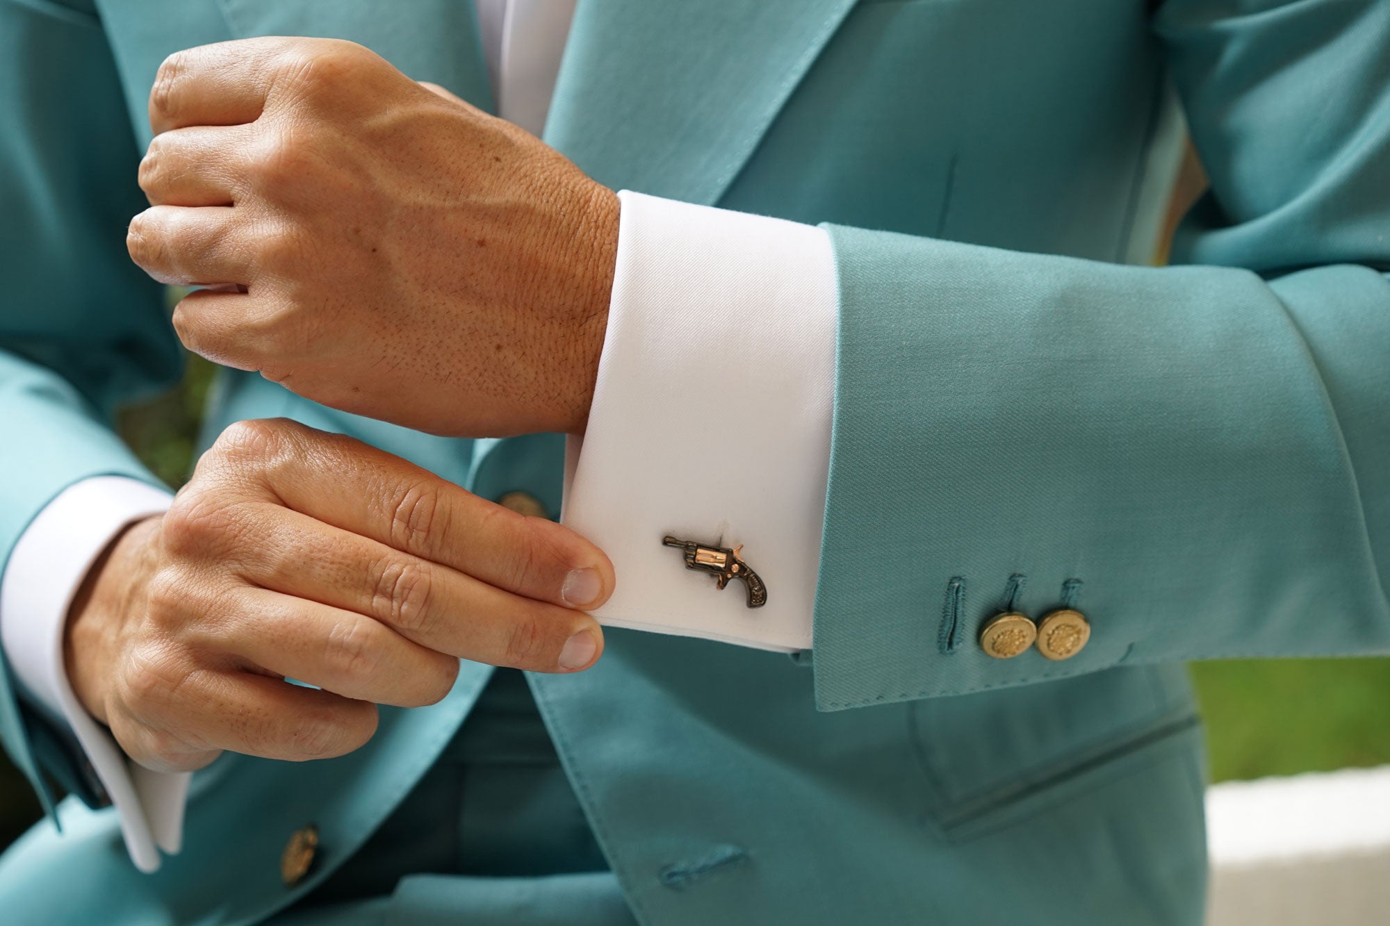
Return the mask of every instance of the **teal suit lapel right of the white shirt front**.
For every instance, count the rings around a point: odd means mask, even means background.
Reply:
[[[713,204],[855,0],[581,0],[545,140],[613,188]]]

